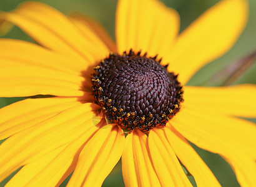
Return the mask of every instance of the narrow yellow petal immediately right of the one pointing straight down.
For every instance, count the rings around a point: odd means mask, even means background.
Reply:
[[[162,186],[192,186],[161,128],[150,131],[149,150]]]

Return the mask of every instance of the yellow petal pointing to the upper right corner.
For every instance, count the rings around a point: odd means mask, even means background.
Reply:
[[[205,11],[184,32],[170,51],[169,71],[186,83],[202,66],[225,54],[244,30],[247,0],[222,0]]]

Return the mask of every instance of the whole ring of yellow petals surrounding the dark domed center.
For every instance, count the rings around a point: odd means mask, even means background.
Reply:
[[[178,35],[179,15],[162,2],[120,0],[114,44],[96,22],[66,17],[39,2],[1,12],[1,19],[40,46],[0,39],[0,97],[57,97],[1,108],[0,139],[7,140],[0,146],[0,180],[22,167],[6,186],[56,186],[72,171],[68,186],[101,186],[122,156],[126,186],[191,186],[179,160],[197,186],[220,186],[189,140],[221,155],[240,185],[254,186],[255,124],[238,117],[256,117],[255,85],[185,85],[233,46],[247,14],[247,1],[222,0]],[[117,57],[130,49],[147,52],[148,59],[158,55],[169,72],[179,74],[184,102],[170,109],[180,107],[166,127],[144,133],[130,126],[135,129],[125,137],[122,125],[102,118],[90,76],[110,52]]]

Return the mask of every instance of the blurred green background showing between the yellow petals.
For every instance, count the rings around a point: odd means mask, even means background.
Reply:
[[[14,9],[23,0],[0,0],[0,11],[10,11]],[[46,4],[55,7],[64,14],[71,12],[80,12],[89,17],[97,19],[107,31],[114,38],[114,20],[117,0],[41,0]],[[210,6],[213,6],[218,0],[163,0],[169,7],[176,9],[181,18],[181,29],[183,31],[185,27],[194,21],[202,12],[204,12]],[[196,75],[190,80],[190,85],[208,85],[217,86],[222,85],[222,79],[218,81],[212,81],[212,77],[224,69],[232,62],[240,60],[243,57],[248,56],[256,50],[256,1],[250,0],[250,17],[247,27],[240,37],[235,46],[224,56],[215,60],[214,62],[203,67]],[[228,23],[227,23],[228,24]],[[22,39],[25,41],[32,41],[32,39],[17,27],[14,27],[12,31],[4,37]],[[248,70],[242,74],[239,79],[235,80],[234,84],[250,83],[256,84],[256,63],[252,64]],[[225,78],[225,77],[224,77]],[[9,105],[12,102],[16,102],[22,98],[0,98],[0,107]],[[255,120],[254,120],[255,122]],[[194,145],[193,145],[194,146]],[[195,147],[195,150],[200,154],[205,163],[214,172],[214,175],[220,181],[222,186],[239,186],[235,178],[234,172],[230,166],[219,156],[208,151],[201,150]],[[190,176],[190,180],[193,178]],[[4,186],[8,179],[0,183],[0,186]],[[47,179],[46,179],[47,180]],[[62,186],[65,186],[67,180],[64,181]],[[124,186],[122,181],[121,163],[117,164],[112,173],[104,181],[103,186]]]

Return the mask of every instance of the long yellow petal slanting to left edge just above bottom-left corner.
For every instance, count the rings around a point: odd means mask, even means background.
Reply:
[[[0,146],[0,181],[17,168],[31,163],[56,148],[67,145],[96,124],[99,106],[84,103],[16,133]]]

